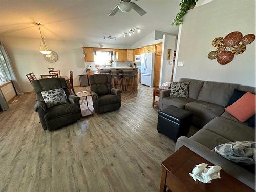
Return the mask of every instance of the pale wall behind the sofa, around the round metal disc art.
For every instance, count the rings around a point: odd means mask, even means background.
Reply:
[[[255,41],[227,65],[207,58],[215,50],[212,40],[232,31],[255,34],[255,0],[214,0],[188,11],[178,54],[184,66],[177,66],[175,81],[185,77],[255,86]]]

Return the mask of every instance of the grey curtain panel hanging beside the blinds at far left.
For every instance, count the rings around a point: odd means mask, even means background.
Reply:
[[[11,75],[11,80],[12,80],[14,89],[15,89],[17,95],[22,95],[23,94],[22,89],[20,88],[20,84],[17,81],[16,75],[15,75],[13,67],[12,67],[12,63],[9,59],[9,56],[6,52],[6,49],[5,49],[5,46],[4,46],[3,42],[0,42],[0,51],[2,52],[2,54],[4,56],[7,68],[9,70],[10,75]]]

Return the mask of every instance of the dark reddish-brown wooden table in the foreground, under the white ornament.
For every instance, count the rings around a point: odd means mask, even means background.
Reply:
[[[189,150],[187,147],[182,146],[173,155],[162,162],[162,177],[159,191],[167,191],[167,188],[172,192],[254,191],[236,178],[224,172],[224,170],[220,171],[221,179],[211,180],[211,183],[195,182],[189,173],[191,173],[193,168],[200,163],[207,163],[208,166],[213,165]]]

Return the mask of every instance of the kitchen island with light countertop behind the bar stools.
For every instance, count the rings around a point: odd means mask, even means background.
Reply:
[[[97,68],[99,73],[101,70],[134,70],[134,91],[138,90],[138,68],[130,68],[128,66],[118,66],[118,67],[100,67]],[[112,79],[112,84],[114,82],[114,79]],[[125,83],[125,81],[123,81]],[[129,82],[129,86],[132,85],[132,82]],[[128,87],[127,91],[132,91],[132,87]]]

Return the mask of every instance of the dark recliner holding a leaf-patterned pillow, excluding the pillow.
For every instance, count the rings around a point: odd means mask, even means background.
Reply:
[[[80,98],[71,95],[65,78],[46,78],[32,81],[36,104],[34,109],[38,112],[44,130],[56,130],[62,126],[76,122],[81,118]],[[63,88],[68,103],[47,108],[41,91]]]

